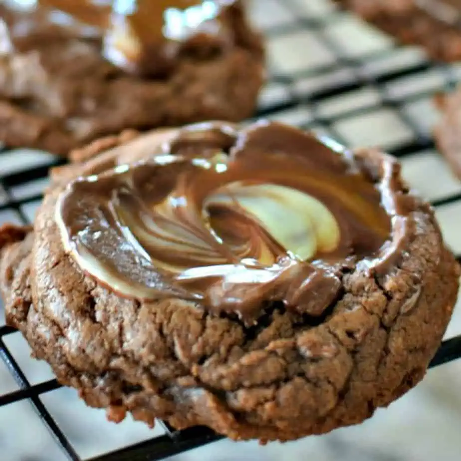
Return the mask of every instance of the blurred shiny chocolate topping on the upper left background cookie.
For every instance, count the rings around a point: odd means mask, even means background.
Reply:
[[[184,50],[204,57],[233,44],[223,20],[235,0],[3,0],[0,53],[69,38],[98,40],[103,56],[143,76],[170,72]]]

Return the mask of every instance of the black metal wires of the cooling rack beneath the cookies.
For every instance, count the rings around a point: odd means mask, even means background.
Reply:
[[[406,113],[402,110],[404,104],[408,104],[409,102],[421,99],[431,93],[422,91],[418,94],[411,95],[410,97],[399,99],[391,97],[388,90],[386,89],[386,84],[396,81],[402,77],[416,76],[422,71],[440,69],[446,76],[447,88],[452,88],[455,83],[455,79],[449,66],[422,60],[416,64],[410,63],[406,68],[399,69],[397,71],[383,71],[378,75],[367,74],[366,72],[363,72],[362,68],[364,63],[361,59],[343,56],[341,50],[337,48],[334,41],[331,40],[325,33],[325,26],[335,21],[339,17],[340,12],[332,13],[332,15],[327,19],[306,19],[303,17],[302,11],[299,10],[299,3],[296,3],[292,0],[278,1],[280,1],[285,7],[290,8],[297,19],[290,25],[271,29],[268,32],[268,36],[273,38],[276,36],[283,36],[286,33],[290,33],[296,30],[305,29],[315,31],[316,35],[319,36],[324,44],[334,53],[337,60],[332,65],[323,66],[316,69],[306,69],[306,71],[299,72],[296,75],[273,75],[271,79],[274,82],[280,82],[288,87],[289,97],[287,100],[276,102],[271,106],[265,106],[257,113],[258,117],[274,116],[277,113],[295,109],[301,105],[307,106],[313,114],[313,119],[309,123],[304,124],[304,128],[308,128],[311,125],[326,126],[334,135],[334,137],[338,139],[338,141],[344,142],[345,140],[342,139],[339,133],[337,133],[334,129],[334,123],[337,120],[353,115],[366,114],[370,110],[385,106],[394,109],[398,114],[400,114],[400,117],[404,123],[409,126],[414,133],[413,140],[404,145],[393,148],[391,150],[392,154],[398,157],[405,157],[407,155],[413,155],[434,147],[433,141],[426,134],[422,134],[420,132],[420,128],[414,123],[411,117],[407,116]],[[300,52],[303,51],[300,50]],[[384,50],[368,56],[368,59],[373,60],[384,58],[393,52],[395,52],[395,49]],[[352,71],[352,81],[337,82],[336,84],[326,85],[324,88],[320,88],[319,90],[314,91],[313,94],[309,95],[308,98],[297,97],[295,84],[300,78],[306,76],[318,77],[327,75],[331,72],[339,71],[344,67]],[[355,91],[365,87],[372,87],[374,90],[376,90],[382,102],[375,107],[352,109],[347,113],[341,113],[340,115],[335,115],[333,117],[323,117],[319,113],[319,104],[328,98],[346,95],[350,91]],[[1,152],[0,155],[2,155]],[[32,201],[35,201],[40,197],[38,195],[34,195],[25,199],[15,199],[12,197],[10,189],[16,186],[24,185],[29,181],[34,181],[46,177],[48,174],[48,167],[58,165],[62,162],[55,161],[52,163],[52,165],[51,163],[47,166],[42,166],[25,172],[22,171],[20,173],[14,173],[10,175],[2,176],[0,171],[0,187],[3,187],[7,195],[7,200],[0,204],[0,211],[6,209],[15,210],[18,213],[18,216],[20,216],[24,223],[26,223],[27,218],[23,212],[24,205],[30,204]],[[433,205],[437,208],[458,201],[461,201],[461,193],[439,199],[435,201]],[[458,260],[461,261],[461,255],[459,255]],[[28,400],[38,415],[42,418],[43,422],[48,427],[56,442],[66,453],[69,460],[82,461],[76,451],[72,448],[70,442],[61,432],[57,424],[53,421],[53,418],[40,400],[40,396],[43,394],[58,389],[60,387],[59,383],[56,380],[49,380],[33,386],[30,385],[18,363],[14,360],[13,355],[3,341],[5,336],[14,333],[14,331],[15,330],[13,328],[7,326],[0,327],[0,358],[10,370],[12,376],[19,386],[19,389],[9,394],[1,395],[0,407],[12,404],[14,402]],[[441,345],[439,351],[430,364],[430,368],[438,367],[459,358],[461,358],[461,336],[445,341]],[[198,427],[184,431],[175,431],[165,423],[161,422],[161,424],[163,424],[166,430],[165,435],[153,438],[152,440],[142,442],[131,447],[126,447],[121,450],[114,451],[112,453],[107,453],[102,456],[92,458],[88,461],[155,461],[221,439],[221,436],[216,435],[207,428]]]

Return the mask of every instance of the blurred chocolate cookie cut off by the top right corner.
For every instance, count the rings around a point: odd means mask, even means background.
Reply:
[[[335,0],[407,44],[438,60],[461,58],[459,0]]]

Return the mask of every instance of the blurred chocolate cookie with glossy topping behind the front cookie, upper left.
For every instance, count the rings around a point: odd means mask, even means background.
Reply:
[[[0,142],[67,155],[126,128],[252,114],[263,49],[240,0],[103,3],[0,4]]]

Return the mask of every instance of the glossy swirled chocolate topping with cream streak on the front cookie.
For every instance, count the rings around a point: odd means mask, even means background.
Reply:
[[[248,324],[265,301],[320,315],[342,269],[383,269],[398,251],[391,220],[406,210],[388,158],[371,173],[334,141],[269,122],[186,127],[152,152],[78,178],[56,205],[66,250],[122,296],[196,300]]]

